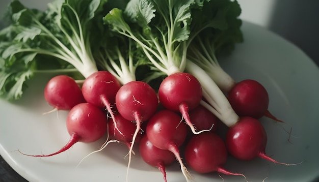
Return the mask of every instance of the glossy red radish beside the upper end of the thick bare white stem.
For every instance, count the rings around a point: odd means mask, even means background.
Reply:
[[[189,111],[202,99],[199,81],[189,73],[174,73],[166,77],[158,88],[159,102],[167,109],[179,111],[193,133],[198,134],[190,120]]]

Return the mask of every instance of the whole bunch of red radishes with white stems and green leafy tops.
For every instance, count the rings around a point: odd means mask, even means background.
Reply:
[[[54,110],[69,110],[71,137],[55,153],[25,155],[57,155],[76,142],[94,142],[108,133],[108,141],[129,149],[127,173],[135,147],[147,164],[162,171],[165,181],[165,166],[175,159],[187,181],[193,179],[187,166],[199,173],[244,176],[223,168],[228,153],[240,160],[260,157],[279,163],[265,154],[267,135],[257,120],[268,116],[280,121],[268,111],[266,89],[254,80],[235,83],[217,62],[218,51],[231,51],[242,41],[236,1],[106,2],[83,1],[94,10],[89,11],[77,1],[59,1],[49,6],[54,12],[49,15],[58,16],[50,19],[59,21],[50,26],[37,19],[42,16],[24,11],[41,32],[32,36],[38,39],[28,39],[30,48],[17,52],[36,50],[64,60],[85,78],[79,82],[59,75],[49,80],[44,97]],[[101,18],[108,5],[112,10]],[[91,33],[95,28],[100,37]],[[33,42],[37,40],[49,43]],[[156,86],[150,84],[154,80]],[[219,125],[228,127],[225,140],[214,133]]]

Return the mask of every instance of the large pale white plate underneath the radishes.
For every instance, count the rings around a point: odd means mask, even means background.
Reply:
[[[269,110],[293,127],[291,143],[285,125],[260,119],[268,133],[266,153],[295,166],[276,165],[262,159],[241,162],[229,157],[225,168],[246,175],[249,181],[311,181],[319,176],[319,70],[296,46],[281,37],[248,22],[243,24],[245,42],[237,45],[231,56],[220,59],[222,67],[236,81],[253,78],[261,82],[270,96]],[[76,143],[65,153],[49,158],[27,154],[48,154],[60,149],[69,139],[65,127],[66,112],[42,115],[51,109],[43,98],[48,77],[38,75],[23,98],[9,103],[0,100],[0,154],[29,181],[125,181],[127,148],[111,143],[76,167],[103,139]],[[192,172],[196,181],[222,181],[217,173]],[[225,181],[245,181],[241,176],[221,174]],[[167,167],[168,181],[184,181],[178,163]],[[129,181],[163,181],[162,174],[134,156]]]

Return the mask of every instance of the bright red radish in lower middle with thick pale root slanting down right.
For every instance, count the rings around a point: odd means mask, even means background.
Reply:
[[[189,181],[192,176],[184,166],[178,150],[178,147],[185,141],[186,134],[187,128],[182,123],[180,116],[171,110],[156,112],[146,126],[149,141],[157,148],[171,151],[178,160],[183,175]]]

